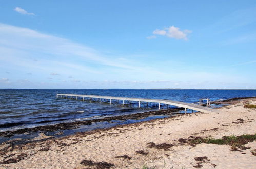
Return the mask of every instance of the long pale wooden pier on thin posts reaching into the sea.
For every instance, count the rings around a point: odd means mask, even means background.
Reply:
[[[148,102],[150,103],[157,103],[159,105],[159,109],[161,109],[161,105],[162,107],[164,107],[165,105],[172,105],[172,106],[176,106],[176,107],[181,107],[184,108],[185,113],[187,113],[187,109],[192,110],[192,112],[195,111],[200,111],[200,112],[205,112],[205,113],[219,113],[219,110],[216,109],[211,109],[208,107],[203,107],[201,105],[196,105],[196,104],[191,104],[191,103],[184,103],[184,102],[179,102],[179,101],[172,101],[172,100],[163,100],[163,99],[145,99],[145,98],[130,98],[130,97],[112,97],[112,96],[96,96],[96,95],[80,95],[80,94],[57,94],[56,97],[62,97],[62,98],[66,98],[68,99],[68,97],[70,99],[75,98],[77,100],[77,98],[81,98],[83,99],[83,101],[85,99],[89,99],[90,101],[92,101],[92,99],[97,99],[97,101],[99,102],[104,102],[105,100],[109,100],[109,103],[114,103],[117,102],[119,103],[119,101],[122,101],[122,104],[125,104],[125,101],[136,101],[138,102],[138,107],[141,107],[141,103],[143,104],[148,104]]]

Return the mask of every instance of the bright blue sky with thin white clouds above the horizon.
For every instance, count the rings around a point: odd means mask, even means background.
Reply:
[[[256,1],[0,0],[0,88],[256,88]]]

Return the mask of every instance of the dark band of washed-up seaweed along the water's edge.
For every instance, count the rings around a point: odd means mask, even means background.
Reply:
[[[226,100],[221,100],[221,101],[212,101],[211,104],[222,105],[221,107],[214,108],[214,109],[220,109],[223,106],[225,106],[226,104],[234,104],[234,103],[237,103],[237,101],[239,101],[241,99],[251,99],[251,98],[256,98],[256,97],[237,97],[237,98],[231,98],[231,99],[226,99]],[[95,118],[95,119],[91,119],[91,120],[62,122],[62,123],[57,123],[57,124],[52,124],[52,125],[41,125],[41,126],[35,126],[32,128],[6,130],[6,131],[0,132],[0,137],[9,138],[9,139],[6,139],[6,141],[8,141],[8,140],[11,140],[12,136],[15,136],[15,135],[21,135],[21,134],[25,134],[25,136],[32,135],[32,134],[38,135],[41,132],[43,132],[44,134],[46,132],[50,132],[50,135],[53,137],[65,137],[68,135],[73,135],[77,132],[71,132],[72,134],[64,134],[64,135],[60,134],[60,133],[63,133],[64,130],[74,130],[74,129],[80,128],[81,126],[85,126],[85,125],[92,125],[92,124],[97,124],[97,123],[102,123],[102,122],[114,123],[113,121],[121,121],[120,123],[117,123],[114,126],[127,125],[127,124],[124,124],[124,122],[126,120],[140,120],[140,119],[146,119],[147,117],[153,117],[153,116],[157,116],[157,115],[158,116],[167,116],[164,118],[171,118],[172,116],[182,115],[183,113],[178,113],[180,110],[183,110],[183,108],[162,109],[162,110],[157,110],[157,111],[147,111],[147,112],[143,112],[143,113],[133,113],[133,114],[128,114],[128,115],[110,116],[110,117],[105,117],[105,118]],[[163,119],[163,118],[155,118],[155,119]],[[154,119],[151,119],[151,120],[154,120]],[[151,120],[145,120],[145,121],[151,121]],[[141,123],[141,122],[144,122],[144,121],[131,122],[129,124]],[[105,126],[100,129],[112,128],[114,126]],[[93,131],[93,130],[97,130],[97,128],[96,129],[92,128],[92,129],[89,129],[88,131]],[[85,132],[88,132],[88,131],[85,131]],[[26,138],[26,137],[23,137],[23,138]],[[32,139],[32,137],[29,139]],[[4,142],[6,142],[6,141],[4,141]]]

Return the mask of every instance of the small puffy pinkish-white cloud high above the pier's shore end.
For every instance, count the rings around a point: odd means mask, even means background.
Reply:
[[[170,38],[175,38],[175,39],[184,39],[187,40],[187,35],[188,33],[191,33],[192,31],[190,30],[180,30],[178,27],[170,26],[168,28],[164,28],[163,30],[156,29],[153,31],[153,34],[155,35],[162,35],[162,36],[167,36]]]

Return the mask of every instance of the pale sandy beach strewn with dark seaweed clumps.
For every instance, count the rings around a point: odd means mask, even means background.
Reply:
[[[220,108],[221,113],[186,114],[14,147],[6,143],[0,147],[0,163],[12,163],[0,168],[256,168],[256,156],[251,153],[256,141],[241,151],[231,151],[228,145],[193,147],[178,141],[189,136],[255,134],[256,109],[244,108],[245,103],[256,104],[256,99],[235,101]],[[233,123],[237,119],[244,121]],[[198,165],[195,157],[203,156]]]

